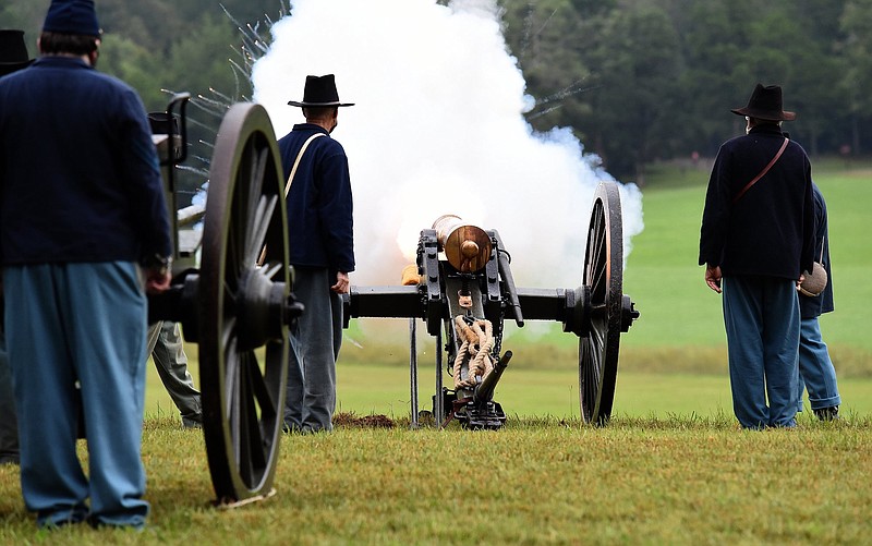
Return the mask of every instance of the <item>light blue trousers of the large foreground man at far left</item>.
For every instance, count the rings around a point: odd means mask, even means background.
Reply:
[[[128,262],[7,267],[3,289],[25,506],[37,512],[40,526],[85,518],[94,524],[144,525],[147,325],[140,267]],[[75,450],[80,407],[87,476]]]

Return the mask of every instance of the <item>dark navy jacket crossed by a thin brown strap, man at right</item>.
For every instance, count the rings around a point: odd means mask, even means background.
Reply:
[[[720,266],[725,276],[791,280],[811,270],[814,201],[802,146],[791,141],[772,169],[734,203],[783,143],[780,128],[763,124],[720,146],[705,195],[700,265]]]

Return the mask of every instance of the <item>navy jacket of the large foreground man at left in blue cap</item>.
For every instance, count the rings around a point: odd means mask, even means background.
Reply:
[[[171,251],[136,93],[65,57],[0,78],[0,263],[141,262]]]

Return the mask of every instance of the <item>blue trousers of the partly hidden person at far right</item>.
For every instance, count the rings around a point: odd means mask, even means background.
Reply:
[[[818,317],[802,319],[799,335],[799,411],[802,411],[803,388],[809,392],[809,405],[812,410],[841,405],[836,368],[821,336]]]

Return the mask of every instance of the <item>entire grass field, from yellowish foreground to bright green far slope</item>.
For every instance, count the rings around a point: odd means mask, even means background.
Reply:
[[[216,509],[203,435],[182,429],[149,364],[143,458],[145,532],[35,532],[19,469],[0,466],[0,544],[832,544],[869,543],[872,340],[864,204],[872,170],[823,165],[837,312],[823,319],[839,373],[840,421],[741,430],[731,412],[719,299],[697,239],[706,173],[655,170],[625,292],[642,312],[621,337],[613,420],[582,425],[577,341],[553,325],[507,332],[516,356],[497,390],[498,432],[409,429],[408,324],[353,325],[339,411],[392,428],[340,424],[281,439],[274,497]],[[868,284],[868,283],[867,283]],[[844,287],[844,288],[843,288]],[[419,340],[421,407],[433,342]],[[189,345],[197,375],[196,345]],[[81,456],[87,459],[80,442]]]

